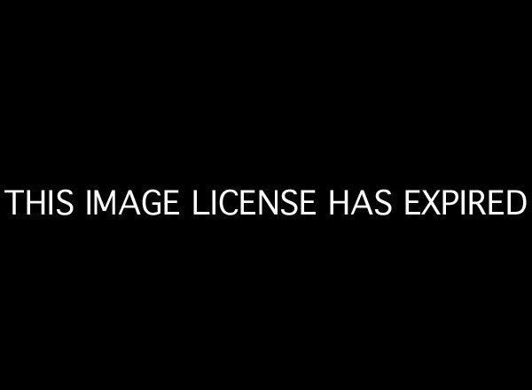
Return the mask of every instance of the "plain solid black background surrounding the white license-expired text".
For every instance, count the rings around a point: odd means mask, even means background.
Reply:
[[[478,10],[219,11],[13,21],[2,189],[316,188],[320,215],[4,213],[11,366],[328,384],[520,370],[529,211],[408,218],[402,193],[529,196],[525,26]],[[379,188],[390,217],[326,216],[329,189]]]

